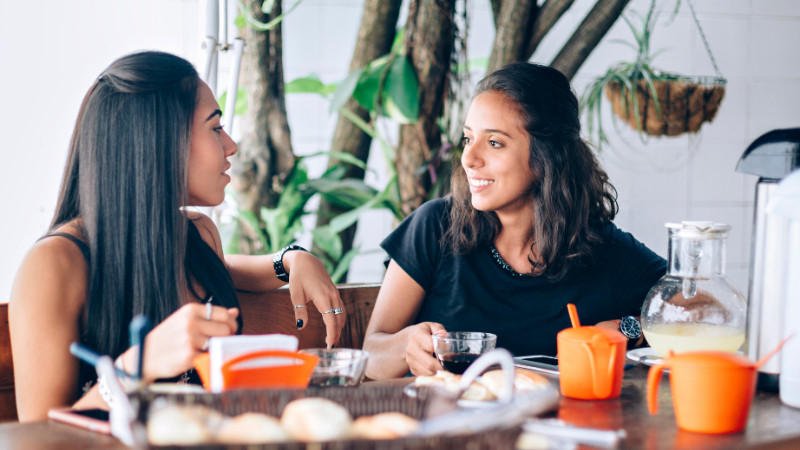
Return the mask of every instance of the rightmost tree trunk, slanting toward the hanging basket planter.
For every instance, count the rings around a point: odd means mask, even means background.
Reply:
[[[597,0],[550,66],[560,70],[567,79],[572,79],[581,64],[617,21],[629,1]]]

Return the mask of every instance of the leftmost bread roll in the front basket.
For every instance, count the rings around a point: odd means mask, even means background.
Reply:
[[[166,405],[150,412],[147,440],[151,445],[198,445],[211,442],[212,432],[196,407]]]

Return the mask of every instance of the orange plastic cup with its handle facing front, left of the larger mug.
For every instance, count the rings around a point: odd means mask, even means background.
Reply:
[[[561,395],[581,400],[619,397],[628,345],[622,333],[578,326],[561,330],[556,340]]]

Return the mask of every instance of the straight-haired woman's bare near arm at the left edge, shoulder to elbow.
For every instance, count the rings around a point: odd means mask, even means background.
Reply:
[[[78,400],[79,363],[69,345],[80,339],[87,270],[73,243],[52,237],[36,243],[17,272],[8,316],[21,422]],[[84,403],[104,406],[96,393]]]

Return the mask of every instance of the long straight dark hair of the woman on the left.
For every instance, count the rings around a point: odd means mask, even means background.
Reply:
[[[158,323],[180,306],[198,80],[184,59],[135,53],[112,63],[81,105],[51,227],[82,220],[91,259],[83,340],[102,354],[127,348],[133,315]]]

